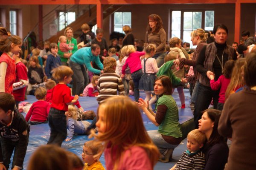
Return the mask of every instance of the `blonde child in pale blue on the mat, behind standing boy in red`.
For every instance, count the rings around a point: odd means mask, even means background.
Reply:
[[[74,133],[79,135],[86,134],[87,127],[90,126],[90,122],[77,121],[77,109],[74,105],[68,106],[68,111],[65,112],[67,118],[68,135],[65,141],[72,140]]]

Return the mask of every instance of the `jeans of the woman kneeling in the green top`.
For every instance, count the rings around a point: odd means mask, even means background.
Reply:
[[[149,130],[148,136],[153,141],[153,143],[158,147],[160,153],[164,155],[167,149],[174,149],[178,144],[169,144],[167,143],[158,130]]]

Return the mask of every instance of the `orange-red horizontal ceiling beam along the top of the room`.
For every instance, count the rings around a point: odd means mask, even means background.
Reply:
[[[1,5],[64,5],[64,4],[212,4],[256,3],[255,0],[0,0]]]

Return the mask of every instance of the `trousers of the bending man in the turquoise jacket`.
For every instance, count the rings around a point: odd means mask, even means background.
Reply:
[[[85,86],[89,84],[89,78],[84,65],[77,64],[70,61],[70,68],[73,70],[74,74],[72,76],[73,86],[72,95],[82,94]]]

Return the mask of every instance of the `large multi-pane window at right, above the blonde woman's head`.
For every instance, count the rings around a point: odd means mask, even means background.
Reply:
[[[214,11],[172,11],[171,37],[191,43],[191,32],[198,28],[213,30]],[[171,38],[170,37],[170,38]]]

